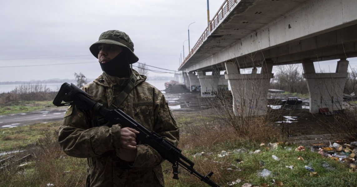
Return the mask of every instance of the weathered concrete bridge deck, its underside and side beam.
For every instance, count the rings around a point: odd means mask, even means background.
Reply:
[[[241,0],[179,70],[356,57],[356,10],[356,0]]]

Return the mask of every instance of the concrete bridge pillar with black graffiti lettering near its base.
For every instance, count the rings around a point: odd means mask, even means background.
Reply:
[[[198,72],[198,80],[201,84],[201,97],[216,97],[218,91],[218,81],[220,72],[213,70],[211,76],[205,75],[205,72]]]

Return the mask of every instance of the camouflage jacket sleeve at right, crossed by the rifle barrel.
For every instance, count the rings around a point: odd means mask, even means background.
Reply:
[[[179,130],[176,121],[169,110],[164,95],[161,92],[158,95],[159,103],[156,104],[154,109],[154,131],[177,146]],[[151,146],[137,145],[136,147],[137,154],[132,167],[153,167],[164,161]]]

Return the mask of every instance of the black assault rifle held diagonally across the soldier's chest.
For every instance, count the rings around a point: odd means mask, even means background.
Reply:
[[[212,171],[206,176],[198,173],[195,169],[193,169],[193,165],[195,165],[195,163],[183,156],[181,154],[181,150],[171,144],[171,142],[165,140],[159,134],[146,129],[129,115],[125,114],[124,111],[120,109],[107,109],[103,107],[103,104],[92,100],[91,97],[91,95],[76,87],[73,83],[63,83],[53,100],[53,104],[57,107],[76,105],[76,107],[81,110],[95,110],[108,120],[106,126],[111,127],[114,124],[121,124],[122,128],[133,128],[140,132],[137,135],[137,139],[139,139],[143,144],[150,145],[157,152],[159,152],[162,158],[172,163],[174,179],[178,179],[178,166],[181,166],[208,185],[212,187],[219,187],[219,185],[210,180],[210,177],[213,175]],[[65,103],[62,103],[62,101]]]

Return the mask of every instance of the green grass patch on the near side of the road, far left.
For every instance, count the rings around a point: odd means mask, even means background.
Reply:
[[[0,129],[0,151],[22,149],[32,145],[42,135],[57,130],[60,121],[38,123],[34,125],[18,126]]]

